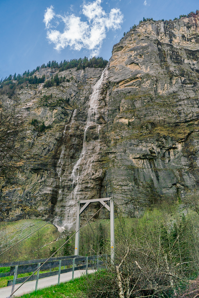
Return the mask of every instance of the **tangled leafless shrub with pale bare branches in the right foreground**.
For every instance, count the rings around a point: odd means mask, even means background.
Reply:
[[[169,297],[177,295],[176,288],[186,283],[185,274],[179,275],[182,263],[174,263],[174,246],[169,252],[159,246],[156,251],[141,240],[126,240],[118,247],[115,264],[88,277],[88,296],[95,298]],[[146,240],[146,239],[145,239]],[[145,243],[144,243],[145,242]],[[144,244],[144,245],[143,245]]]

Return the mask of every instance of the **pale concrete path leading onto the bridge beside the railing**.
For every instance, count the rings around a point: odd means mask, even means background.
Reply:
[[[93,273],[93,272],[95,272],[95,270],[88,270],[88,273]],[[86,273],[86,270],[77,270],[74,272],[74,278],[80,277],[84,273]],[[60,275],[60,283],[69,281],[71,279],[72,279],[72,272],[62,273]],[[38,289],[47,288],[47,287],[50,287],[51,285],[56,285],[57,282],[58,282],[58,275],[40,278],[38,280]],[[18,291],[16,291],[14,293],[14,296],[20,297],[24,294],[33,292],[35,290],[35,284],[36,284],[36,280],[27,281],[26,283],[24,283],[24,285],[21,286],[21,288],[18,289]],[[15,285],[15,290],[20,285],[21,285],[20,283],[18,285]],[[12,290],[11,285],[9,287],[0,288],[0,297],[6,298],[6,297],[10,296],[11,290]]]

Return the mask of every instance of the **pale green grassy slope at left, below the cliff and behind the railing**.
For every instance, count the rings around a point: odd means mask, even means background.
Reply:
[[[46,225],[43,226],[44,224]],[[35,232],[38,228],[41,229],[30,235],[30,233]],[[1,223],[1,252],[13,246],[19,240],[27,236],[28,238],[1,255],[0,263],[49,257],[53,246],[56,248],[59,245],[59,241],[57,242],[56,240],[59,239],[60,235],[53,224],[38,219],[24,219],[16,222]],[[37,251],[38,241],[40,243],[39,252]]]

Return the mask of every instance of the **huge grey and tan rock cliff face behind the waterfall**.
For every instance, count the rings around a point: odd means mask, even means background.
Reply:
[[[183,199],[198,189],[198,25],[199,17],[191,16],[142,22],[128,32],[113,47],[89,126],[90,95],[103,69],[36,73],[70,82],[19,92],[30,149],[19,185],[7,195],[44,218],[77,199],[113,196],[125,216],[137,217],[161,198]],[[52,128],[39,133],[32,119]],[[55,224],[72,223],[74,216],[75,209]],[[99,216],[108,213],[102,209]]]

